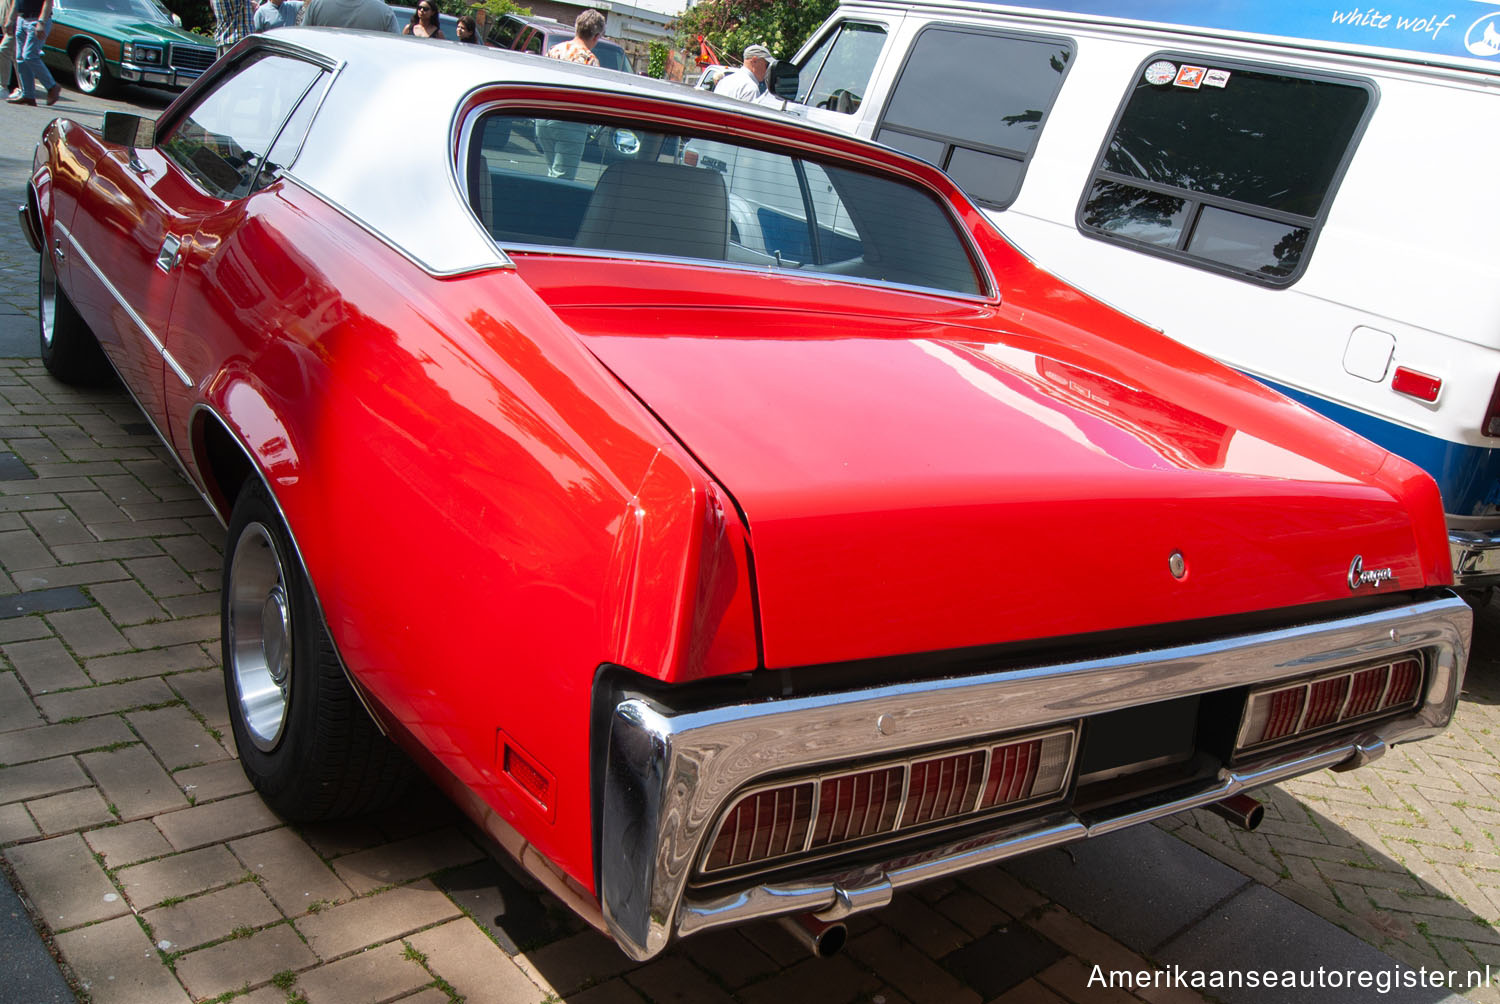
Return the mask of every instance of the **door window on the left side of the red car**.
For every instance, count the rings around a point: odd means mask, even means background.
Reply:
[[[288,116],[321,74],[321,68],[286,56],[252,56],[158,146],[210,195],[249,195]]]

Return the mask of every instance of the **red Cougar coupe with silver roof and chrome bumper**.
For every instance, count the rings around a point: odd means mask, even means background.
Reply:
[[[1426,474],[774,108],[282,30],[51,123],[21,222],[46,368],[226,525],[266,801],[416,761],[634,959],[1254,822],[1454,711]]]

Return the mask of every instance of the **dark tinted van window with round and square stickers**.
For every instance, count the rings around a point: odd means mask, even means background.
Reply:
[[[1360,81],[1152,57],[1100,156],[1078,227],[1287,285],[1306,266],[1371,99]]]

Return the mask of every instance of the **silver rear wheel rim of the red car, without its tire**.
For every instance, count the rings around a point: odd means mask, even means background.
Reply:
[[[286,729],[291,704],[291,599],[266,524],[246,524],[232,561],[225,617],[230,674],[244,729],[268,753]]]

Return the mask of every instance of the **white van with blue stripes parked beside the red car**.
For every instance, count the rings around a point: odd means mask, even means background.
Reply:
[[[849,0],[802,114],[1420,464],[1460,585],[1500,582],[1500,3],[1070,6]]]

